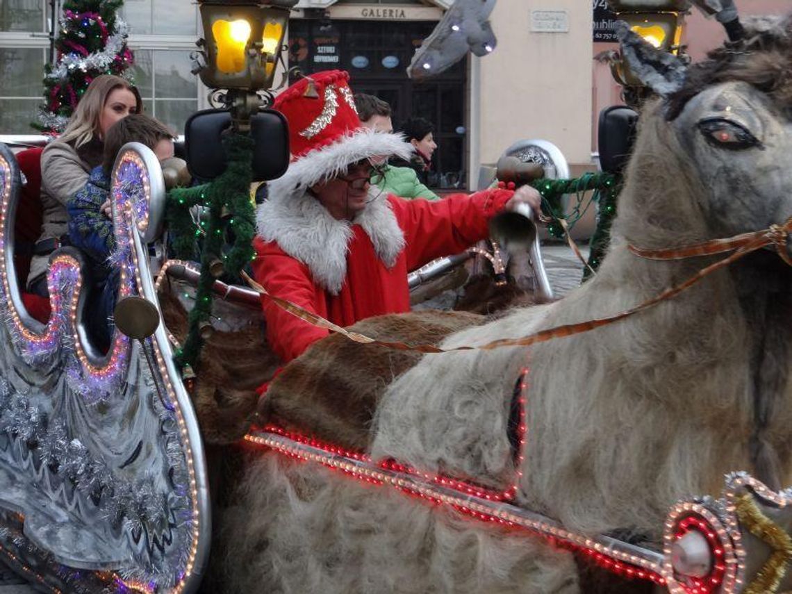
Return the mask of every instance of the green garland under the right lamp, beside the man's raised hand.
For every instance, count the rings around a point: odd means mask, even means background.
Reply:
[[[547,226],[547,232],[554,238],[562,239],[565,235],[564,227],[558,219],[564,219],[571,229],[585,215],[592,203],[600,204],[596,230],[589,244],[588,255],[588,266],[596,271],[611,239],[611,223],[616,215],[616,201],[622,190],[622,177],[613,173],[584,173],[581,177],[569,180],[539,179],[531,185],[542,195],[544,214],[554,219]],[[591,190],[593,190],[592,196],[586,199],[585,192]],[[562,196],[565,194],[576,196],[576,202],[569,212],[565,212],[562,204]],[[589,274],[587,268],[584,271],[584,279]]]

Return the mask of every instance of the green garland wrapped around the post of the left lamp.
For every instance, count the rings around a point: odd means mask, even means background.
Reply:
[[[166,216],[173,230],[176,257],[188,259],[196,237],[204,236],[200,245],[200,280],[196,303],[190,311],[189,330],[185,344],[176,353],[177,364],[196,368],[203,339],[200,329],[209,323],[215,274],[237,280],[239,271],[253,259],[255,209],[250,200],[253,139],[249,135],[228,133],[223,138],[228,166],[208,185],[174,189],[168,195]],[[195,208],[208,210],[208,221],[193,219]],[[192,211],[192,212],[191,212]],[[224,250],[229,240],[230,249]],[[222,263],[222,268],[219,264]]]

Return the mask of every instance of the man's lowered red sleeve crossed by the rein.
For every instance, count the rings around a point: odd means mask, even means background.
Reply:
[[[324,295],[317,291],[306,265],[288,256],[275,243],[265,243],[256,238],[253,246],[256,248],[253,278],[258,284],[276,297],[287,299],[314,314],[326,315],[324,303],[320,303]],[[329,334],[327,330],[311,326],[282,310],[265,295],[261,296],[261,306],[267,322],[269,345],[284,363]]]

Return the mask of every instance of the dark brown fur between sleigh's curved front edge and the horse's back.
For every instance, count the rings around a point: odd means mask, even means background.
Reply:
[[[167,289],[160,291],[159,303],[166,327],[183,343],[187,311]],[[230,444],[245,436],[256,413],[255,390],[272,379],[279,366],[261,324],[212,334],[201,350],[192,390],[192,405],[208,444]]]

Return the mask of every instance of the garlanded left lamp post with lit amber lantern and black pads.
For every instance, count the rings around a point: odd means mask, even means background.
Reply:
[[[297,1],[199,0],[204,39],[197,42],[192,71],[225,109],[196,112],[185,125],[188,168],[208,183],[169,194],[177,258],[194,257],[200,242],[195,306],[187,339],[176,353],[185,379],[194,376],[201,345],[211,334],[215,280],[237,278],[253,258],[251,183],[280,177],[288,166],[286,119],[265,109],[267,97],[259,93],[272,87],[289,10]],[[193,208],[202,213],[199,223]]]

